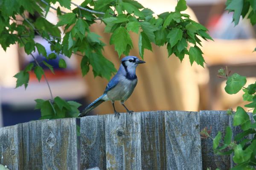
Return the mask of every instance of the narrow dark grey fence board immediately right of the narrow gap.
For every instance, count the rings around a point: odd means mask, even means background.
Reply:
[[[105,116],[81,118],[81,170],[106,169]]]

